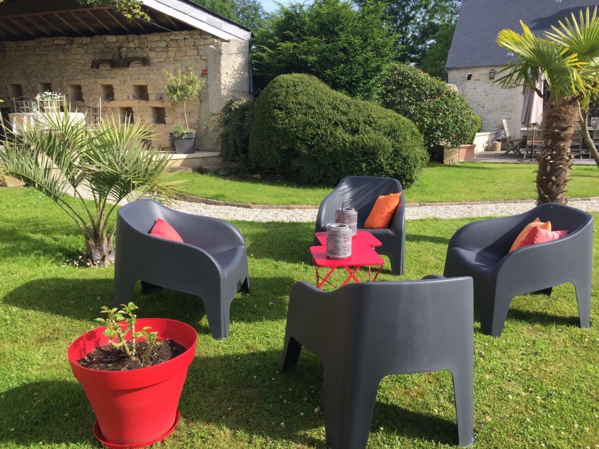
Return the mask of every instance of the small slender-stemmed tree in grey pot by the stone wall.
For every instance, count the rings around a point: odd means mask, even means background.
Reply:
[[[189,69],[187,73],[183,73],[179,69],[176,74],[168,71],[165,71],[165,74],[164,92],[173,105],[183,103],[183,116],[185,118],[185,125],[178,123],[173,130],[175,150],[180,154],[193,153],[195,151],[195,131],[189,129],[189,123],[187,122],[187,101],[198,96],[199,91],[204,87],[204,80],[201,80],[192,69]]]

